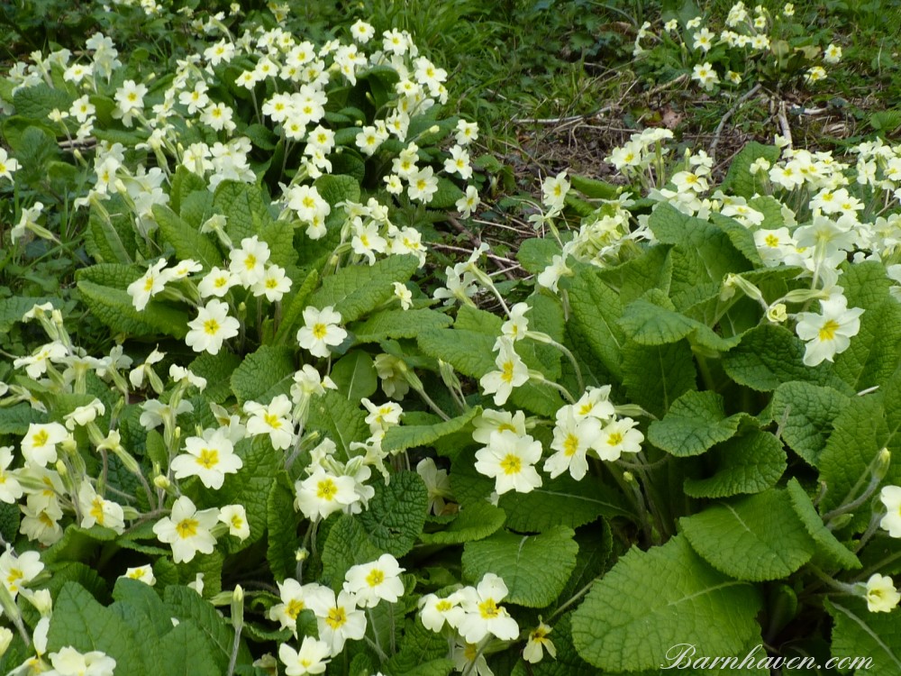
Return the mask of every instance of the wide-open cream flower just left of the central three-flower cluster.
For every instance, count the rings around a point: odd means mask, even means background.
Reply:
[[[475,468],[479,474],[495,480],[498,495],[508,490],[529,493],[542,485],[535,462],[542,458],[542,443],[531,436],[520,436],[510,430],[492,432],[488,445],[476,452]]]

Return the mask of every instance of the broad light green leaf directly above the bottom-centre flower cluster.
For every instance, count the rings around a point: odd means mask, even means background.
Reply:
[[[526,607],[551,605],[576,567],[575,532],[564,525],[538,535],[496,533],[463,546],[463,574],[473,581],[487,572],[509,589],[508,603]]]

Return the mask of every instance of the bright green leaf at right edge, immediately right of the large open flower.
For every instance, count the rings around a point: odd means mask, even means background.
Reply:
[[[866,260],[844,268],[842,287],[849,307],[862,307],[860,332],[835,356],[835,375],[852,389],[885,384],[901,359],[901,303],[888,293],[892,281],[882,263]]]

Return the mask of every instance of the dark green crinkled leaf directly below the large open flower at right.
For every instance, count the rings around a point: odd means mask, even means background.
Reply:
[[[762,392],[790,380],[803,380],[850,393],[851,388],[833,376],[830,364],[805,366],[804,352],[804,344],[787,328],[760,324],[724,355],[723,368],[735,382]]]

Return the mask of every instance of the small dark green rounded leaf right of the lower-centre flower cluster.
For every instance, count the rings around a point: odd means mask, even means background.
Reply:
[[[414,471],[391,475],[387,484],[375,482],[376,495],[359,516],[369,542],[382,552],[404,556],[423,532],[429,493]]]

